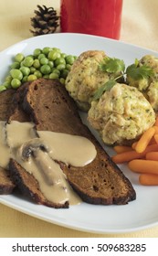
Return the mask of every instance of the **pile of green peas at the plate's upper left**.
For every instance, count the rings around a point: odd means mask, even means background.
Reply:
[[[0,91],[17,89],[24,82],[39,78],[58,79],[64,84],[75,59],[76,56],[67,55],[59,48],[36,48],[32,55],[26,57],[17,53]]]

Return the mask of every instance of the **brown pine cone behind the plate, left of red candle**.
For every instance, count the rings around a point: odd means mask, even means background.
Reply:
[[[38,10],[35,10],[35,17],[31,18],[31,26],[34,30],[30,32],[34,36],[52,34],[56,31],[58,27],[59,16],[57,16],[57,11],[53,7],[48,7],[43,5],[37,5]]]

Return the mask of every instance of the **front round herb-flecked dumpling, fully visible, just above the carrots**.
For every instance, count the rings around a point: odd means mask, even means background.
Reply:
[[[105,144],[132,144],[153,126],[155,113],[141,91],[116,83],[91,102],[88,119]]]

